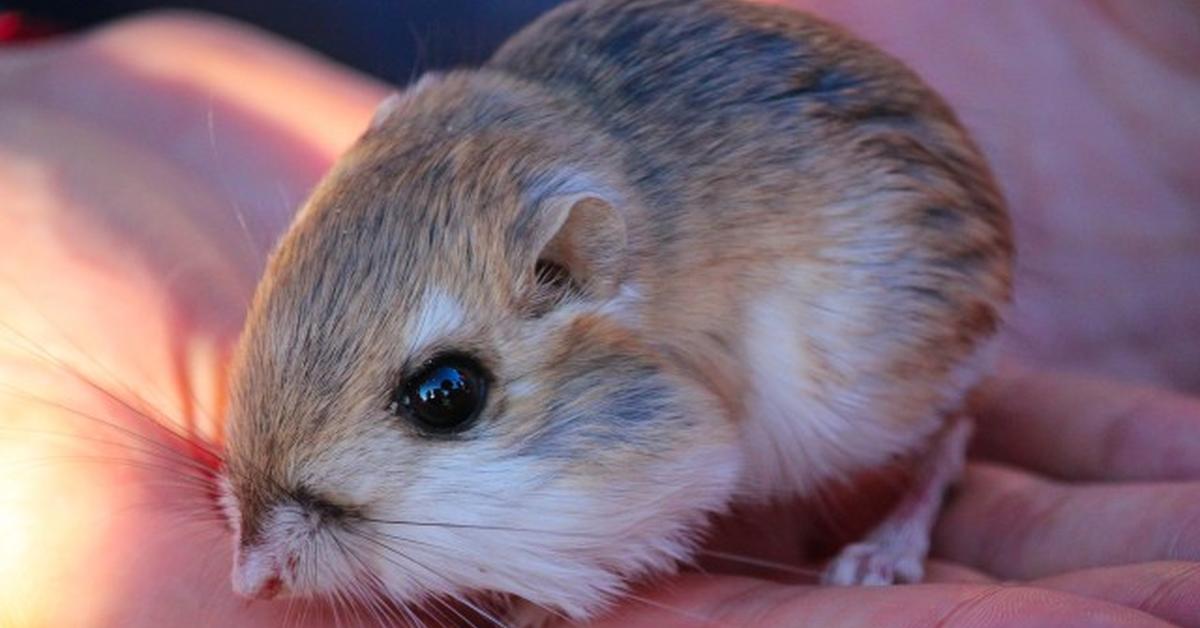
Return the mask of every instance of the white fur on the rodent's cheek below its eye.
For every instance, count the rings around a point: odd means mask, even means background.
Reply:
[[[697,448],[622,482],[583,485],[464,443],[427,459],[428,473],[379,502],[388,509],[376,519],[415,525],[368,522],[362,533],[374,542],[349,540],[398,598],[496,591],[582,618],[626,578],[688,560],[739,466],[733,447]]]

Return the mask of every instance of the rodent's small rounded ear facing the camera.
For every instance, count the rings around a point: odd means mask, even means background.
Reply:
[[[611,190],[596,185],[565,186],[544,196],[533,208],[540,220],[533,221],[536,257],[530,270],[590,298],[616,293],[626,245],[617,203]]]

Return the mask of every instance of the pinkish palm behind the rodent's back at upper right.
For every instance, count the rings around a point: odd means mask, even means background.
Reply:
[[[913,66],[1014,217],[1004,348],[1200,391],[1200,4],[794,0]]]

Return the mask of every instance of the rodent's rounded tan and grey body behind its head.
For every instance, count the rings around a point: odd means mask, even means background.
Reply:
[[[880,465],[959,405],[1008,298],[1007,217],[899,62],[799,13],[649,0],[560,11],[488,67],[620,146],[632,318],[740,424],[746,490]]]

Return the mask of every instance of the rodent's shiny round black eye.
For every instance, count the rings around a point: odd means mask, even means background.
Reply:
[[[407,414],[421,427],[454,432],[468,427],[484,408],[487,379],[482,367],[464,355],[430,360],[392,397],[394,414]]]

